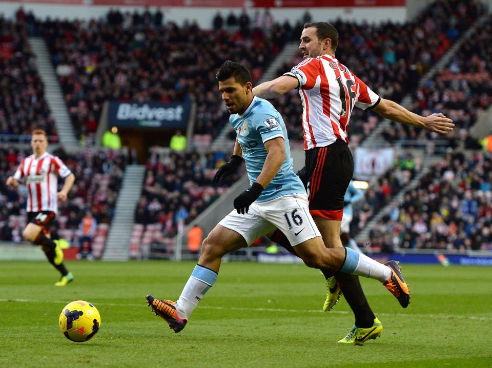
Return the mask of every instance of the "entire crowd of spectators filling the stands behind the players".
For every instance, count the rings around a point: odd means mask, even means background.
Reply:
[[[450,147],[466,139],[478,109],[490,106],[490,34],[492,18],[458,50],[446,70],[417,89],[418,80],[481,15],[479,2],[442,0],[432,3],[413,22],[403,25],[356,25],[337,21],[340,33],[336,56],[381,97],[400,101],[413,93],[412,110],[420,114],[443,112],[457,124]],[[160,13],[160,15],[159,15]],[[233,21],[218,13],[213,30],[194,23],[178,27],[165,22],[160,11],[121,13],[114,9],[105,20],[37,21],[18,13],[17,23],[0,17],[0,139],[1,135],[28,134],[45,129],[56,141],[53,119],[36,73],[28,33],[43,35],[48,43],[73,125],[80,138],[94,136],[106,100],[189,101],[197,103],[196,134],[215,137],[229,114],[217,92],[215,72],[224,59],[247,65],[257,81],[281,45],[297,40],[302,23],[294,27],[275,23],[268,15],[251,19],[242,13]],[[304,19],[308,20],[308,19]],[[412,47],[411,47],[412,46]],[[284,64],[281,75],[300,61]],[[302,141],[301,101],[296,90],[275,99],[292,141]],[[372,129],[379,117],[353,110],[352,146]],[[232,132],[234,133],[234,132]],[[425,131],[392,125],[383,132],[390,142],[435,138]],[[77,180],[67,205],[60,206],[59,228],[75,230],[85,210],[98,223],[109,223],[125,170],[125,158],[112,151],[57,153]],[[27,151],[0,149],[0,173],[12,173]],[[215,170],[227,160],[224,153],[155,150],[147,161],[144,191],[135,222],[159,224],[160,238],[174,237],[237,180],[238,174],[212,187]],[[425,175],[418,188],[405,194],[372,232],[374,248],[479,249],[492,242],[491,159],[457,150],[448,153]],[[351,230],[355,235],[420,170],[420,161],[408,152],[368,189],[355,206]],[[445,178],[440,182],[439,178]],[[103,183],[104,185],[100,185]],[[20,240],[25,221],[25,191],[0,183],[0,239]],[[90,205],[89,205],[90,203]]]

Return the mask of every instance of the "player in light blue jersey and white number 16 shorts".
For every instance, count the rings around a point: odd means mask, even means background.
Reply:
[[[251,186],[234,199],[235,210],[203,241],[198,264],[179,299],[174,302],[147,295],[153,312],[165,319],[174,332],[181,331],[217,280],[222,257],[250,246],[256,238],[277,228],[309,267],[371,277],[381,281],[397,298],[408,295],[399,271],[352,249],[324,246],[309,214],[308,196],[293,172],[283,119],[267,100],[253,96],[248,69],[227,61],[220,67],[217,80],[237,139],[234,155],[212,182],[235,172],[244,159]]]

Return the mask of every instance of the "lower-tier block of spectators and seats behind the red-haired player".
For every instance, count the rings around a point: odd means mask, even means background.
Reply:
[[[25,150],[0,148],[1,176],[13,174],[22,158],[29,154]],[[65,238],[78,246],[81,218],[85,210],[91,210],[98,223],[93,239],[94,256],[98,258],[104,250],[126,158],[115,151],[85,150],[76,154],[55,151],[53,154],[66,163],[76,178],[69,200],[59,203],[56,222],[52,227],[53,238]],[[22,230],[27,222],[26,200],[26,187],[13,190],[6,187],[4,180],[0,182],[0,240],[22,241]]]

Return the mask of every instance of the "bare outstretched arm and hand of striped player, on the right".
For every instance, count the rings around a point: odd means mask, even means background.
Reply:
[[[423,128],[428,132],[447,134],[453,131],[455,126],[453,120],[441,113],[420,116],[408,111],[396,102],[384,98],[381,98],[380,103],[373,110],[386,119]]]

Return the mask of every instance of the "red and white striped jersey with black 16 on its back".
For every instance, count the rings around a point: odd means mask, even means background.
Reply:
[[[284,75],[299,81],[304,150],[329,146],[337,139],[348,145],[348,122],[354,106],[368,110],[381,100],[330,55],[305,59]]]

